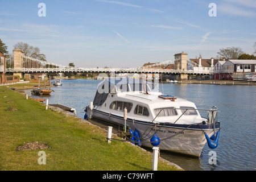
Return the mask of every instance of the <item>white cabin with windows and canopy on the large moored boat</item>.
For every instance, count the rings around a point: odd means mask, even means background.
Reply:
[[[144,121],[189,123],[198,119],[201,122],[193,102],[163,95],[151,82],[127,79],[101,82],[93,101],[94,109],[123,116],[126,108],[127,117]]]

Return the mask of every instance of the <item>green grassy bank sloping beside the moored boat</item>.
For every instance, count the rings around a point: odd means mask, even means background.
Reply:
[[[44,104],[0,86],[0,170],[148,170],[152,155],[127,142],[106,142],[106,131],[75,116],[46,110]],[[49,149],[16,151],[40,142]],[[38,163],[39,151],[46,164]],[[159,160],[158,170],[176,170]]]

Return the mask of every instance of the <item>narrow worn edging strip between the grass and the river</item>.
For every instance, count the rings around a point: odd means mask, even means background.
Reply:
[[[8,88],[8,87],[6,86],[6,88]],[[9,88],[9,89],[11,89],[11,88]],[[11,90],[13,90],[13,89],[11,89]],[[26,93],[22,92],[22,90],[13,90],[13,92],[16,92],[16,93],[18,93],[18,94],[21,94],[21,95],[23,95],[23,96],[26,96]],[[31,98],[31,97],[30,97],[30,98]],[[32,98],[31,98],[31,99],[32,99]],[[42,104],[43,104],[43,103],[42,103]],[[43,105],[45,105],[45,104],[43,104]],[[60,109],[59,107],[50,106],[50,105],[48,105],[48,109],[49,109],[49,110],[52,110],[52,111],[55,111],[57,114],[62,113],[62,114],[65,115],[65,117],[73,117],[73,118],[76,119],[77,122],[88,123],[89,125],[92,125],[93,127],[97,127],[97,128],[99,128],[99,129],[101,129],[102,131],[105,131],[106,133],[108,133],[108,131],[106,131],[105,129],[102,129],[102,127],[97,126],[97,125],[94,125],[93,123],[89,122],[89,119],[82,119],[82,118],[78,117],[77,115],[72,114],[72,113],[69,112],[69,111],[65,111],[65,110],[63,110],[63,109]],[[112,133],[112,136],[118,137],[116,134],[113,134],[113,133]],[[144,150],[143,148],[141,148],[141,147],[139,147],[139,146],[136,146],[136,145],[133,144],[133,143],[130,143],[130,142],[127,142],[127,143],[131,144],[131,146],[138,147],[141,151],[145,151],[148,155],[152,155],[152,152],[150,152],[150,151],[146,151],[146,150]],[[163,159],[163,158],[159,157],[159,160],[162,160],[162,161],[163,161],[164,163],[166,163],[167,165],[170,165],[170,166],[172,166],[172,167],[175,167],[177,171],[185,171],[183,168],[179,167],[177,164],[174,164],[174,163],[172,163],[172,162],[170,162],[170,161],[168,161],[168,160],[166,160],[166,159]]]

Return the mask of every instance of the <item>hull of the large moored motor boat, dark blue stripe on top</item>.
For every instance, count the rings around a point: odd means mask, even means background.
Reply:
[[[90,116],[90,110],[87,111]],[[99,110],[92,111],[92,118],[101,119],[104,121],[112,122],[119,125],[124,125],[124,119],[121,116],[105,113]],[[150,139],[156,134],[160,139],[158,145],[160,150],[167,150],[172,152],[178,152],[181,154],[192,155],[199,157],[201,151],[207,143],[205,138],[206,133],[209,137],[214,134],[214,130],[217,132],[220,130],[220,124],[215,125],[180,125],[171,123],[159,123],[145,121],[133,121],[127,118],[126,124],[134,131],[135,128],[141,135],[142,146],[153,147]]]

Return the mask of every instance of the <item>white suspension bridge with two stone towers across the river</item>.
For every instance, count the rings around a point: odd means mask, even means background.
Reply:
[[[187,53],[178,53],[175,58],[159,63],[134,68],[77,68],[48,63],[24,56],[20,49],[6,59],[6,72],[22,76],[22,73],[159,73],[166,75],[210,75],[212,69],[187,60]],[[193,69],[187,69],[193,68]],[[200,69],[199,69],[200,68]]]

